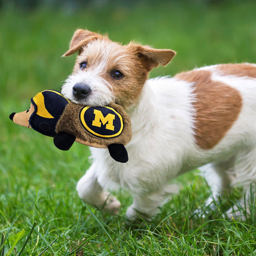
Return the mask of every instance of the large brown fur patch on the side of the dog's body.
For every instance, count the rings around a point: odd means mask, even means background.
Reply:
[[[175,78],[194,83],[194,136],[200,148],[212,149],[237,120],[242,107],[241,95],[236,89],[213,81],[210,71],[182,72]]]

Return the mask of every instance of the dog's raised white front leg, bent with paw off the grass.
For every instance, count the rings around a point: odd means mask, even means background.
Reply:
[[[116,197],[112,196],[106,190],[103,190],[97,181],[95,168],[96,165],[92,164],[85,175],[78,181],[78,196],[86,203],[94,205],[100,210],[118,214],[121,204]]]

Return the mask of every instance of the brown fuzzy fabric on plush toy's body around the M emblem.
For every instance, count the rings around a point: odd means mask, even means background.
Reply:
[[[124,129],[119,136],[114,138],[99,138],[89,133],[82,126],[79,117],[80,110],[84,106],[72,102],[66,105],[64,112],[56,125],[56,133],[70,133],[77,138],[77,142],[80,142],[81,144],[85,144],[88,146],[103,148],[114,143],[126,145],[132,138],[132,127],[130,124],[130,117],[121,106],[118,106],[114,103],[111,103],[109,106],[117,110],[117,112],[123,117]]]

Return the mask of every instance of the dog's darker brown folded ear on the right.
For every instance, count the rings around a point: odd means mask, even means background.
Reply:
[[[129,47],[131,47],[133,53],[139,57],[139,60],[147,71],[159,65],[167,65],[176,54],[173,50],[154,49],[150,46],[136,45],[133,43],[130,43]]]

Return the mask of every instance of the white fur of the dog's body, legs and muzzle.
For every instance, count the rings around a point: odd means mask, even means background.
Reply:
[[[213,72],[213,80],[236,88],[242,95],[241,113],[225,138],[210,150],[196,145],[191,83],[170,77],[147,80],[138,104],[129,112],[132,122],[132,140],[126,146],[129,161],[115,162],[107,150],[91,148],[94,162],[77,184],[78,195],[85,202],[117,213],[120,203],[109,197],[106,190],[123,188],[133,196],[126,216],[133,220],[139,212],[150,217],[158,213],[159,206],[176,190],[168,182],[202,165],[214,199],[230,184],[243,185],[249,190],[256,181],[256,79],[223,76],[216,66],[201,69]],[[69,77],[62,93],[72,98],[72,85],[85,82],[93,91],[88,104],[109,103],[112,100],[109,86],[96,74],[88,73]]]

